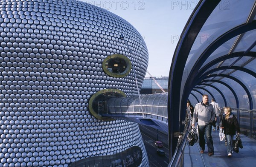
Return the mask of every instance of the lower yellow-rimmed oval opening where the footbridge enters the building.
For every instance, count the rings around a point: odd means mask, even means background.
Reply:
[[[118,89],[103,89],[98,91],[89,100],[90,113],[97,119],[113,121],[114,119],[102,117],[102,114],[108,114],[108,99],[112,97],[126,97],[126,95]]]

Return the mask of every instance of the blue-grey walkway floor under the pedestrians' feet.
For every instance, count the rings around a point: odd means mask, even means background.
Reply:
[[[212,131],[214,156],[208,156],[207,144],[205,151],[200,153],[199,143],[189,146],[186,143],[184,150],[184,167],[256,167],[256,141],[240,135],[243,148],[239,153],[227,156],[227,146],[219,140],[219,131]]]

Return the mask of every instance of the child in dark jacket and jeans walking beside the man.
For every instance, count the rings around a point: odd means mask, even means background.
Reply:
[[[224,107],[224,113],[221,115],[220,126],[224,129],[224,134],[227,139],[227,156],[232,156],[232,140],[236,134],[240,134],[239,123],[236,119],[236,116],[232,113],[230,107]]]

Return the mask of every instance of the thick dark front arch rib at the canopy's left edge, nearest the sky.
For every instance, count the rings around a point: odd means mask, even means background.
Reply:
[[[175,132],[181,132],[181,118],[185,118],[186,112],[181,112],[186,109],[185,99],[187,96],[183,96],[180,101],[180,85],[182,81],[183,69],[186,62],[184,59],[188,58],[189,51],[192,48],[192,45],[200,32],[202,26],[215,9],[216,6],[220,3],[221,0],[215,1],[199,1],[198,5],[194,9],[193,13],[189,17],[188,22],[185,25],[185,28],[181,34],[180,40],[175,49],[174,56],[172,58],[172,65],[169,73],[169,102],[168,102],[168,118],[169,118],[169,159],[172,159],[173,154],[175,153],[176,145],[178,139],[175,138]],[[177,66],[179,66],[177,68]],[[175,80],[174,80],[175,79]],[[187,87],[187,92],[191,92],[191,87]],[[178,96],[178,97],[177,97]],[[178,105],[177,105],[178,104]],[[177,111],[179,114],[177,114]]]

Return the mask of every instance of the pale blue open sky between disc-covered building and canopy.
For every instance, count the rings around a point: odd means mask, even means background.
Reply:
[[[148,72],[152,76],[169,76],[180,34],[198,3],[198,0],[81,1],[111,11],[140,32],[148,48]]]

